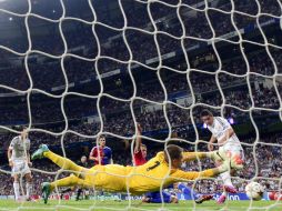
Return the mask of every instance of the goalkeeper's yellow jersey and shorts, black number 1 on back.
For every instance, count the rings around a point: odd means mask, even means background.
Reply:
[[[170,169],[164,160],[164,153],[159,152],[145,164],[139,167],[95,165],[88,171],[84,182],[85,185],[100,190],[142,194],[158,191],[161,185],[168,187],[178,181],[194,180],[199,177],[213,177],[213,171],[205,170],[200,173]]]

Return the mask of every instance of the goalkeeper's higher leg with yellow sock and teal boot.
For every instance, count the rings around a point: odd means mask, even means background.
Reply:
[[[85,169],[83,167],[80,167],[71,160],[53,153],[46,144],[40,145],[40,148],[31,155],[32,160],[41,158],[48,158],[63,170],[71,170],[78,177],[84,178]]]

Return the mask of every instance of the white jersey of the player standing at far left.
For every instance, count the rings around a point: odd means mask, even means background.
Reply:
[[[27,160],[30,150],[30,140],[22,140],[20,135],[14,137],[9,148],[12,150],[12,160]]]

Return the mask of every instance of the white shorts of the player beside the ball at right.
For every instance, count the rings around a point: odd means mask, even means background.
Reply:
[[[239,158],[244,161],[244,151],[240,142],[228,141],[219,148],[219,151],[222,151],[228,157],[239,155]]]

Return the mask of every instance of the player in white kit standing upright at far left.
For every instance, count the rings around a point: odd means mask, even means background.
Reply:
[[[32,177],[29,167],[32,165],[30,162],[30,140],[28,138],[27,129],[23,129],[21,134],[14,137],[8,149],[8,159],[9,165],[12,168],[12,178],[13,178],[13,190],[14,199],[17,201],[21,200],[20,197],[20,178],[26,178],[26,189],[27,195],[26,199],[30,200],[31,190],[32,190]]]

